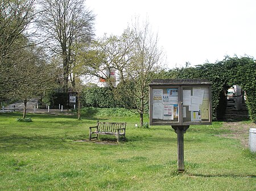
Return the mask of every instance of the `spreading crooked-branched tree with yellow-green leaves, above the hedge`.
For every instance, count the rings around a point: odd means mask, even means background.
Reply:
[[[117,81],[123,82],[125,71],[131,60],[131,48],[134,38],[132,31],[127,28],[121,36],[106,34],[100,39],[92,41],[90,46],[79,48],[79,70],[82,74],[93,75],[98,79],[104,79],[110,87],[114,87],[111,82],[111,71],[117,71]]]

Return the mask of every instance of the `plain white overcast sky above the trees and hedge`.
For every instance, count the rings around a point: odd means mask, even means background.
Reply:
[[[139,16],[158,33],[168,67],[214,63],[224,56],[256,58],[256,0],[86,0],[96,37],[121,35]]]

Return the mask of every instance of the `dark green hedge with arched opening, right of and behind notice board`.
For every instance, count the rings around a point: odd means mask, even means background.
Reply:
[[[252,58],[230,58],[216,63],[205,63],[195,67],[183,67],[167,72],[181,79],[208,79],[212,82],[213,118],[222,118],[225,114],[225,92],[232,85],[239,85],[246,91],[246,105],[251,120],[256,122],[256,63]],[[168,76],[165,74],[165,76]]]

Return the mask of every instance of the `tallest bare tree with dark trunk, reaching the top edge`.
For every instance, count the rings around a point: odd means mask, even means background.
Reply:
[[[94,35],[95,16],[86,10],[83,0],[42,0],[38,26],[51,52],[62,59],[63,90],[68,91],[68,78],[75,86],[72,65],[75,64],[75,45],[89,43]]]

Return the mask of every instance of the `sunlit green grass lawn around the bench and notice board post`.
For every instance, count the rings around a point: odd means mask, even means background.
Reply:
[[[105,113],[105,114],[104,114]],[[177,172],[176,134],[171,126],[135,128],[133,114],[108,110],[76,116],[0,114],[0,190],[255,190],[255,155],[222,122],[191,126],[184,134],[185,172]],[[111,116],[111,117],[110,117]],[[118,117],[122,116],[122,117]],[[97,120],[127,122],[119,144],[88,139]],[[148,118],[146,118],[148,121]],[[105,139],[114,137],[101,137]]]

